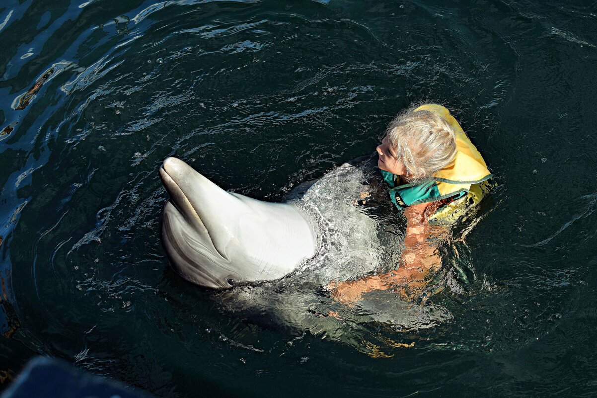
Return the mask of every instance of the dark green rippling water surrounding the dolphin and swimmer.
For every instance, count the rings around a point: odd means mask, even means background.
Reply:
[[[538,3],[3,1],[0,388],[44,354],[161,397],[595,396],[597,5]],[[415,347],[261,327],[167,268],[165,157],[281,200],[420,100],[500,187]]]

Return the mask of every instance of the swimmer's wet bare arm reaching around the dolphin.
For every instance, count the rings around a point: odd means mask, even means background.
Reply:
[[[383,275],[373,275],[354,281],[332,282],[332,297],[352,306],[364,293],[372,290],[394,289],[403,299],[413,299],[426,285],[426,277],[441,267],[441,257],[428,238],[445,231],[432,227],[427,217],[433,214],[438,202],[421,203],[407,207],[407,230],[404,238],[401,266]]]

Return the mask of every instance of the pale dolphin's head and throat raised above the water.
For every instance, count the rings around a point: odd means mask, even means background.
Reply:
[[[296,207],[226,192],[173,157],[159,175],[170,194],[162,244],[174,271],[190,282],[227,289],[275,280],[315,253],[312,229]]]

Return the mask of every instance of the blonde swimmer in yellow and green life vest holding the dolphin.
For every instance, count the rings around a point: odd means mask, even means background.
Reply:
[[[396,270],[330,283],[333,298],[348,305],[371,290],[416,296],[426,277],[441,267],[432,238],[447,234],[447,226],[490,189],[492,176],[481,154],[441,105],[411,107],[399,114],[377,153],[390,198],[407,218],[404,249]]]

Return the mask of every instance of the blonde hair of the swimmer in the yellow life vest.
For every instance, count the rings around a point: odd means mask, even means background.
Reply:
[[[434,112],[415,111],[419,106],[402,111],[386,130],[389,144],[413,180],[429,179],[456,157],[454,129]]]

